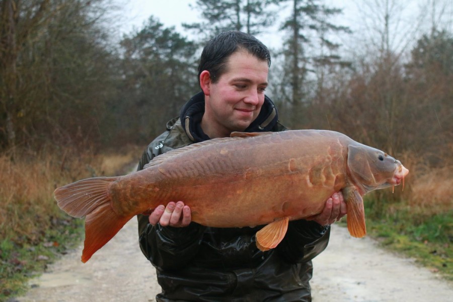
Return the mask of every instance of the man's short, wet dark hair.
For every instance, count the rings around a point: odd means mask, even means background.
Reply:
[[[228,58],[236,51],[244,49],[270,66],[269,49],[260,40],[240,31],[222,32],[209,40],[201,53],[198,65],[198,83],[203,70],[209,71],[211,80],[216,83],[225,72]]]

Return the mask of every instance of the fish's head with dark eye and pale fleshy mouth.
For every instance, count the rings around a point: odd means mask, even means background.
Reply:
[[[348,146],[347,166],[363,193],[399,185],[409,173],[400,161],[363,144]]]

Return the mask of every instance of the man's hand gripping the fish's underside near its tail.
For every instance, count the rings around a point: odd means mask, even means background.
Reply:
[[[149,223],[156,225],[158,222],[162,226],[174,226],[175,228],[180,228],[182,226],[187,226],[192,221],[192,215],[190,207],[184,205],[184,202],[170,201],[167,206],[160,205],[158,206],[150,215]]]

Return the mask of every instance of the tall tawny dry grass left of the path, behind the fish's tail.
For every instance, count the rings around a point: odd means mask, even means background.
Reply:
[[[0,238],[19,245],[36,243],[44,230],[64,217],[53,199],[55,188],[79,179],[124,174],[141,154],[131,147],[122,155],[94,155],[74,149],[51,154],[0,155]],[[129,172],[129,171],[127,171]]]

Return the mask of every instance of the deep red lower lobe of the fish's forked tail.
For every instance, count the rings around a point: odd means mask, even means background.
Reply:
[[[115,213],[109,203],[94,209],[85,218],[85,242],[82,262],[87,262],[93,254],[102,248],[133,215],[124,217]]]

